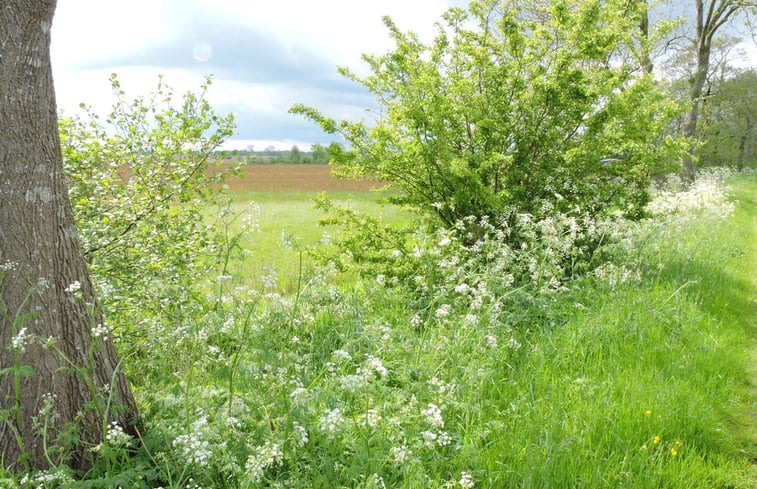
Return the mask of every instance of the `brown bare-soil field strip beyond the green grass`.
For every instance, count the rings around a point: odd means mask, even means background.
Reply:
[[[343,180],[331,174],[329,165],[249,165],[242,167],[241,178],[229,179],[230,190],[282,191],[365,191],[381,188],[383,182]]]

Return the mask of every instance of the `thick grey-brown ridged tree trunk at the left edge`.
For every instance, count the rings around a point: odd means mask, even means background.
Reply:
[[[63,174],[55,3],[0,5],[0,461],[14,470],[85,468],[109,423],[133,434],[138,419],[112,341],[96,334],[102,313]]]

